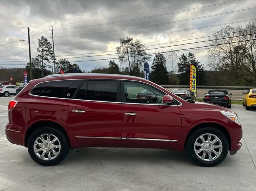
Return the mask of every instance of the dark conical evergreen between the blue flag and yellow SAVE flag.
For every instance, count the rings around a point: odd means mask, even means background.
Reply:
[[[168,71],[166,68],[166,59],[162,53],[154,56],[152,63],[151,79],[159,85],[166,85],[169,82]]]

